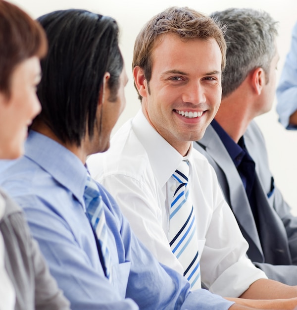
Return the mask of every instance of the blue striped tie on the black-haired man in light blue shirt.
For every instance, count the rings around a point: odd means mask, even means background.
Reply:
[[[99,258],[105,276],[110,280],[111,259],[110,252],[107,247],[108,232],[103,209],[104,202],[102,201],[98,185],[89,175],[85,187],[84,200],[86,204],[87,217],[89,218],[95,236],[97,236],[99,241],[99,245],[97,245]]]

